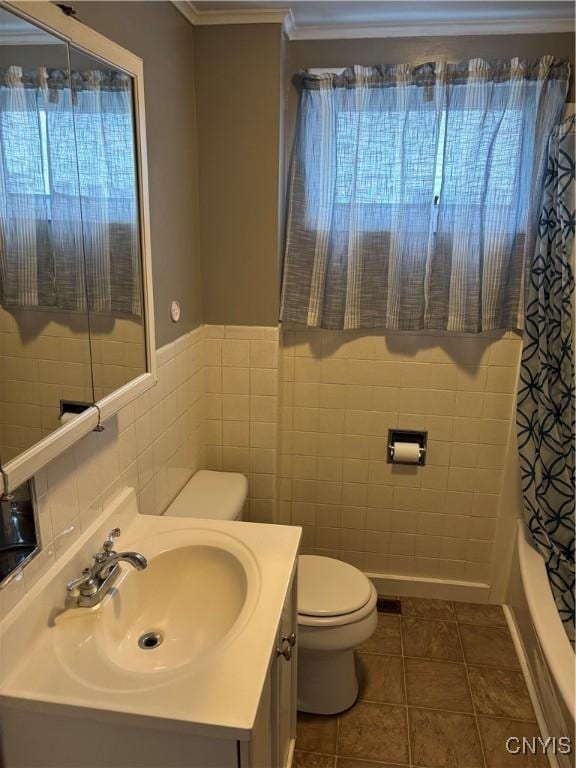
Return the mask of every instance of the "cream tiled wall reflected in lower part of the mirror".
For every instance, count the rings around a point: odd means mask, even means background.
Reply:
[[[4,462],[60,426],[60,400],[92,402],[146,370],[136,318],[0,307],[0,453]],[[93,392],[94,389],[94,392]]]

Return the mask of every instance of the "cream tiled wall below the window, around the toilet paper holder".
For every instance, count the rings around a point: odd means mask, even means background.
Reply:
[[[286,330],[278,519],[368,572],[487,583],[520,353],[515,334]],[[388,429],[427,465],[386,463]]]

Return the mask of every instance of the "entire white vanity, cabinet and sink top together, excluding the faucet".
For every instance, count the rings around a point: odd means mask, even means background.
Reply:
[[[63,611],[66,580],[116,526],[148,568],[127,571],[101,605]],[[300,536],[291,526],[141,516],[134,491],[122,491],[0,620],[0,766],[289,768]],[[202,556],[212,568],[184,588],[183,552],[188,568]],[[231,605],[240,611],[232,630],[199,651]],[[134,622],[146,611],[165,640],[189,633],[190,651],[164,642],[164,656],[140,655]]]

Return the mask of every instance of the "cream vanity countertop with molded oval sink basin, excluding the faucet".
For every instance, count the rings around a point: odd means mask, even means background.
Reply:
[[[122,563],[101,603],[67,606],[66,584],[115,527],[121,549],[148,567]],[[140,515],[133,489],[123,489],[0,621],[3,725],[6,713],[32,708],[41,723],[43,713],[64,718],[63,740],[81,739],[86,717],[97,733],[112,720],[122,734],[130,723],[170,721],[170,738],[183,723],[202,736],[247,738],[299,540],[295,527]]]

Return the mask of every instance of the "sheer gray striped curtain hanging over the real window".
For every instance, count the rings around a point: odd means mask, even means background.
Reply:
[[[551,56],[302,73],[281,319],[522,327],[568,77]]]

